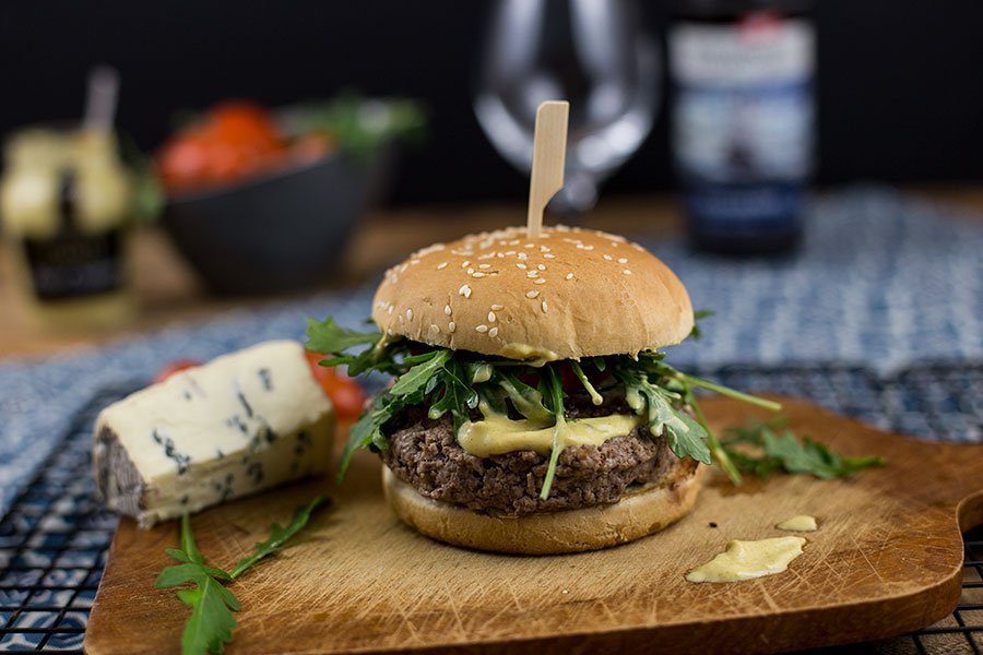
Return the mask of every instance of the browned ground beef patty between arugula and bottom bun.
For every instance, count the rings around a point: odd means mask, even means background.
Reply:
[[[626,410],[620,406],[581,406],[568,415],[604,416]],[[678,462],[665,439],[652,438],[647,427],[639,427],[601,446],[565,449],[549,498],[541,500],[548,457],[534,451],[476,457],[458,445],[450,417],[430,420],[422,408],[396,417],[388,437],[390,445],[380,452],[382,461],[421,495],[473,511],[512,516],[614,503],[628,487],[659,481]]]

